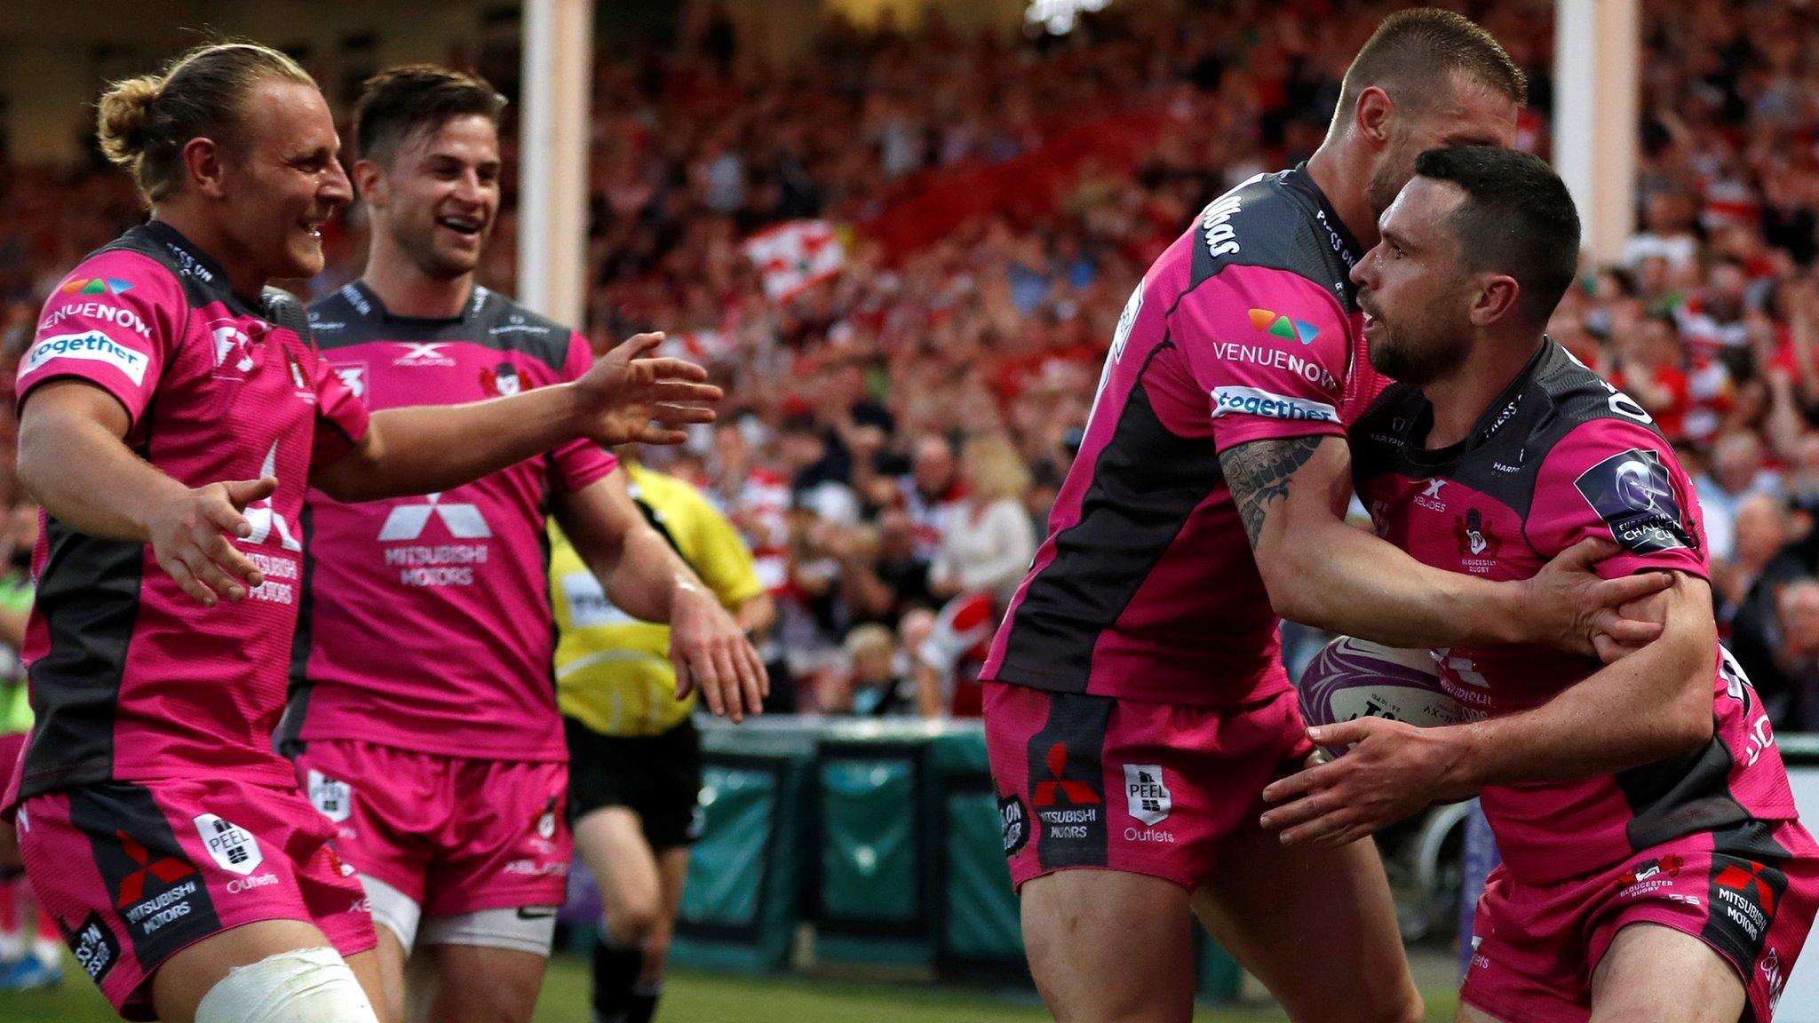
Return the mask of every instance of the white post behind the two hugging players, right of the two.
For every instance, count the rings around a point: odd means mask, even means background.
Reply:
[[[1615,262],[1635,229],[1639,49],[1637,0],[1557,0],[1553,166],[1597,262]]]

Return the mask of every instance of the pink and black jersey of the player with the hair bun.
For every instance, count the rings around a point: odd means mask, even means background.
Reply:
[[[127,446],[186,486],[278,477],[233,539],[266,575],[204,608],[147,544],[44,521],[24,659],[36,715],[15,799],[102,781],[233,774],[295,785],[271,752],[302,597],[311,464],[347,455],[367,413],[309,342],[302,306],[260,308],[175,229],[151,222],[84,258],[51,293],[18,366],[29,404],[78,379],[113,395]]]

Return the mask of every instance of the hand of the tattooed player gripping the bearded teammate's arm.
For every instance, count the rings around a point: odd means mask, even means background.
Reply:
[[[1666,572],[1599,577],[1592,566],[1617,553],[1612,541],[1586,539],[1541,566],[1524,586],[1532,639],[1610,663],[1661,635],[1661,623],[1628,617],[1624,604],[1673,584]]]

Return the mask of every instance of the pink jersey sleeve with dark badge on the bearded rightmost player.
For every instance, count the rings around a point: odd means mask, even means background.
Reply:
[[[1593,419],[1546,453],[1535,475],[1528,541],[1553,557],[1588,537],[1619,552],[1597,564],[1606,579],[1681,570],[1704,579],[1704,522],[1673,448],[1641,422]]]

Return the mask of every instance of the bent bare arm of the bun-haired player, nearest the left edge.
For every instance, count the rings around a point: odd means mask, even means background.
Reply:
[[[126,446],[126,408],[82,380],[33,391],[18,424],[18,479],[65,526],[151,544],[158,566],[204,606],[240,601],[264,575],[224,533],[253,532],[246,506],[278,481],[184,486]]]

